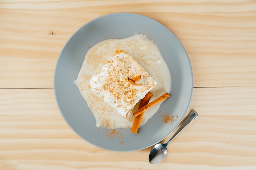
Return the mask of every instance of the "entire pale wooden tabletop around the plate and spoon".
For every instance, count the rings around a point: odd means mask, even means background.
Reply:
[[[167,26],[193,67],[186,114],[199,117],[157,165],[148,163],[151,148],[112,152],[89,144],[56,105],[63,45],[86,22],[117,12]],[[256,1],[0,0],[0,170],[81,169],[255,170]]]

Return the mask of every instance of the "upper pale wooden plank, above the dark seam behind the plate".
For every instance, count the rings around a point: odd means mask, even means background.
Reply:
[[[80,26],[108,13],[132,12],[159,21],[180,39],[191,60],[194,87],[256,86],[255,1],[14,0],[1,2],[0,9],[0,63],[5,66],[13,61],[4,59],[29,58],[51,59],[52,67]],[[33,60],[20,62],[24,67],[34,65],[38,75],[45,67]],[[40,81],[22,73],[22,78],[9,76],[11,69],[4,68],[6,76],[0,75],[0,88],[53,87],[53,75]],[[16,79],[21,82],[16,84]]]

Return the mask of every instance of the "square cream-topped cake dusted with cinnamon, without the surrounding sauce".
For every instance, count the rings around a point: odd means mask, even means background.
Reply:
[[[116,51],[90,79],[92,91],[122,116],[127,116],[156,84],[155,79],[123,50]]]

